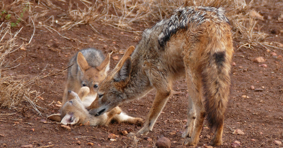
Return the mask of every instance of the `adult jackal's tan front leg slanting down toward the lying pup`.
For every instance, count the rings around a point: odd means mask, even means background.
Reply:
[[[147,114],[147,118],[143,125],[143,128],[137,132],[137,134],[148,134],[149,131],[152,130],[154,123],[156,122],[157,117],[159,116],[160,112],[162,111],[163,107],[165,106],[168,98],[171,95],[171,90],[168,91],[160,91],[157,90],[155,95],[155,99],[153,101],[153,105]]]

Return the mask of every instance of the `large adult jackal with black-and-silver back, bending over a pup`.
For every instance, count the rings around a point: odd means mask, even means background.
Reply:
[[[172,94],[172,84],[185,77],[189,94],[188,122],[182,134],[189,137],[185,145],[197,145],[205,114],[215,129],[211,144],[222,145],[233,53],[231,27],[224,13],[223,8],[179,8],[169,19],[146,29],[133,53],[129,48],[102,82],[89,112],[102,115],[155,88],[155,100],[138,131],[147,134]]]

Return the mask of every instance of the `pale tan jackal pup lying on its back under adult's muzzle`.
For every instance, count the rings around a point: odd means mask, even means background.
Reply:
[[[102,116],[95,117],[85,109],[93,101],[94,97],[86,97],[89,93],[88,87],[82,87],[78,94],[73,91],[68,91],[67,102],[61,108],[61,114],[53,114],[47,119],[61,122],[61,124],[85,124],[89,125],[108,125],[110,121],[125,122],[135,125],[141,125],[143,120],[141,118],[134,118],[128,116],[121,111],[119,107],[113,108],[111,111],[106,112]]]

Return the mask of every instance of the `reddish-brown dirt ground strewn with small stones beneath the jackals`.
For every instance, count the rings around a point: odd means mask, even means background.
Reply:
[[[7,2],[7,1],[6,1]],[[269,34],[269,39],[266,42],[276,41],[283,43],[282,22],[278,21],[282,7],[278,8],[274,4],[280,1],[270,1],[266,3],[264,8],[255,8],[260,11],[264,17],[264,21],[259,21],[258,26],[265,33]],[[56,5],[61,5],[63,2],[58,2]],[[281,3],[280,3],[281,4]],[[277,5],[277,4],[276,4]],[[282,4],[281,4],[282,5]],[[53,15],[56,19],[62,11],[50,10],[44,17],[39,17],[35,22],[48,19]],[[57,17],[57,18],[56,18]],[[31,74],[35,76],[39,74],[47,65],[47,72],[53,69],[62,69],[67,66],[68,59],[79,49],[86,47],[95,47],[104,52],[106,55],[115,48],[125,50],[130,45],[136,45],[136,41],[130,32],[123,32],[117,28],[106,26],[103,24],[95,24],[99,33],[90,29],[88,25],[78,25],[72,30],[59,31],[61,25],[54,23],[53,28],[57,29],[61,34],[69,38],[80,39],[87,43],[80,43],[74,39],[66,39],[61,37],[55,31],[47,30],[44,27],[36,28],[36,36],[34,36],[30,47],[25,51],[19,50],[9,56],[9,60],[14,60],[18,56],[23,56],[20,61],[21,65],[12,69],[17,75]],[[140,26],[140,25],[136,25]],[[19,29],[17,27],[14,28]],[[136,27],[136,30],[142,31],[144,28]],[[19,42],[28,41],[33,32],[33,27],[24,26],[20,35]],[[27,40],[25,40],[27,39]],[[91,45],[94,43],[94,45]],[[235,49],[238,43],[234,42]],[[283,50],[273,49],[278,55],[283,56]],[[112,56],[121,54],[114,53]],[[267,67],[259,67],[258,63],[252,60],[262,56],[266,59],[264,62]],[[111,67],[118,60],[111,59]],[[231,105],[227,111],[224,121],[223,142],[227,145],[222,147],[231,147],[231,143],[235,140],[241,142],[239,147],[283,147],[283,145],[275,145],[274,140],[283,140],[283,61],[280,58],[274,58],[270,52],[264,48],[255,48],[254,50],[240,48],[236,50],[233,57],[233,62],[236,63],[232,67],[233,86],[231,89]],[[56,113],[59,107],[55,106],[57,101],[61,101],[63,90],[65,87],[66,72],[64,75],[49,77],[42,80],[42,83],[50,87],[42,87],[41,92],[45,92],[42,96],[44,100],[40,100],[38,104],[45,107],[42,111],[44,114],[50,115]],[[256,89],[251,90],[253,85]],[[264,88],[263,88],[264,87]],[[180,138],[184,131],[186,122],[187,108],[187,86],[183,79],[179,80],[174,85],[175,91],[181,91],[179,95],[173,95],[166,104],[163,112],[155,123],[153,131],[147,136],[153,139],[149,142],[148,137],[138,136],[136,141],[133,139],[122,139],[121,131],[137,132],[141,127],[128,125],[125,123],[113,123],[108,127],[104,126],[71,126],[71,130],[64,129],[60,124],[48,121],[48,123],[40,122],[41,119],[46,119],[45,115],[40,115],[33,109],[28,110],[25,114],[17,112],[13,109],[1,108],[0,114],[0,134],[4,137],[0,138],[0,147],[20,147],[22,145],[32,144],[33,147],[48,145],[48,142],[54,144],[54,147],[155,147],[154,142],[160,137],[167,137],[171,140],[171,147],[185,147],[182,145],[183,138]],[[143,119],[151,107],[155,95],[152,91],[145,97],[137,101],[132,101],[121,105],[121,109],[128,112],[130,115],[139,116]],[[243,98],[246,95],[249,98]],[[54,100],[55,103],[52,103]],[[47,106],[48,104],[51,105]],[[15,113],[11,115],[3,115]],[[14,122],[19,122],[14,124]],[[206,125],[206,122],[204,123]],[[31,129],[34,129],[32,131]],[[241,129],[245,134],[232,134],[235,129]],[[176,134],[170,135],[170,132]],[[113,133],[118,135],[116,142],[107,140],[108,134]],[[209,145],[212,137],[212,131],[203,128],[200,135],[198,146]],[[254,139],[255,141],[251,141]],[[81,144],[76,142],[80,140]],[[176,141],[174,143],[173,141]],[[88,145],[88,142],[94,145]]]

